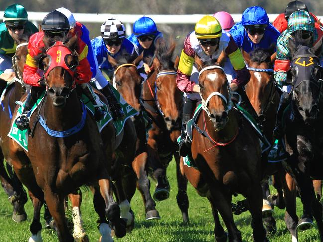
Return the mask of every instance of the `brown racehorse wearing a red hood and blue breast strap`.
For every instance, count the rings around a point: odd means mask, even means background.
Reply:
[[[45,43],[48,49],[40,63],[47,91],[38,114],[30,117],[30,124],[35,125],[28,139],[29,151],[13,140],[9,144],[8,160],[28,188],[34,205],[34,219],[30,225],[30,239],[34,241],[42,241],[39,213],[44,200],[55,220],[59,241],[74,241],[65,221],[63,201],[83,184],[95,187],[94,207],[99,214],[103,240],[112,241],[107,221],[116,236],[125,235],[125,221],[120,219],[120,208],[111,194],[105,165],[107,151],[112,153],[114,148],[115,129],[111,122],[105,126],[109,129],[110,142],[104,147],[93,116],[79,101],[75,90],[75,68],[79,63],[74,51],[78,48],[76,40],[75,36],[65,45],[56,42],[51,47]],[[38,118],[44,126],[37,125]],[[107,158],[112,160],[112,157]]]

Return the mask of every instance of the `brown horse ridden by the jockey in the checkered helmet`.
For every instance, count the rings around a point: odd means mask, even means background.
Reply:
[[[138,56],[135,60],[130,59],[130,56],[124,53],[121,53],[118,59],[108,55],[109,62],[115,68],[113,85],[124,97],[125,101],[139,111],[139,115],[133,117],[137,142],[132,168],[137,175],[137,189],[143,198],[146,220],[160,219],[159,213],[155,208],[156,203],[150,195],[150,181],[146,173],[148,167],[151,167],[153,170],[156,170],[156,168],[154,168],[155,162],[152,162],[153,159],[149,158],[150,155],[148,155],[146,124],[140,105],[141,76],[137,70],[137,65],[142,60],[142,56]]]

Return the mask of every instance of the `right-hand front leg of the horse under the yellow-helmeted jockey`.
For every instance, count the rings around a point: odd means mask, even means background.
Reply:
[[[261,199],[261,186],[254,184],[249,190],[247,201],[249,204],[249,211],[251,213],[252,222],[251,227],[253,229],[253,239],[256,242],[264,242],[266,239],[266,231],[262,225],[262,199]]]

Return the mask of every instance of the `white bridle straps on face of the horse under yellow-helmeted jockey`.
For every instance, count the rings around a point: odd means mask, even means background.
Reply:
[[[210,70],[210,69],[215,69],[215,68],[221,69],[224,72],[224,69],[222,67],[220,67],[220,66],[217,66],[217,65],[208,66],[208,67],[203,68],[199,72],[199,78],[200,78],[200,75],[201,75],[202,72],[204,72],[206,70]],[[224,100],[224,102],[226,104],[226,108],[225,108],[224,111],[226,113],[228,113],[231,110],[231,108],[232,108],[232,99],[231,99],[232,92],[231,92],[231,88],[230,88],[229,82],[227,82],[227,88],[228,88],[228,96],[229,96],[228,99],[229,100],[227,100],[226,97],[222,93],[217,92],[217,91],[214,91],[214,92],[210,93],[210,95],[207,97],[207,99],[204,100],[203,99],[203,96],[201,94],[201,89],[200,89],[199,94],[200,94],[200,97],[201,97],[201,106],[202,106],[202,109],[208,114],[209,117],[210,117],[211,114],[210,114],[210,111],[209,111],[209,109],[208,109],[207,106],[208,106],[208,103],[209,103],[210,99],[213,96],[219,96],[219,97],[221,97]]]

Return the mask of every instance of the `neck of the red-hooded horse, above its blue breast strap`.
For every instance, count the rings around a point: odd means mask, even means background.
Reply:
[[[41,115],[50,129],[64,131],[74,127],[80,122],[82,117],[82,106],[76,91],[74,90],[70,93],[64,107],[55,107],[52,104],[51,98],[47,95]]]

